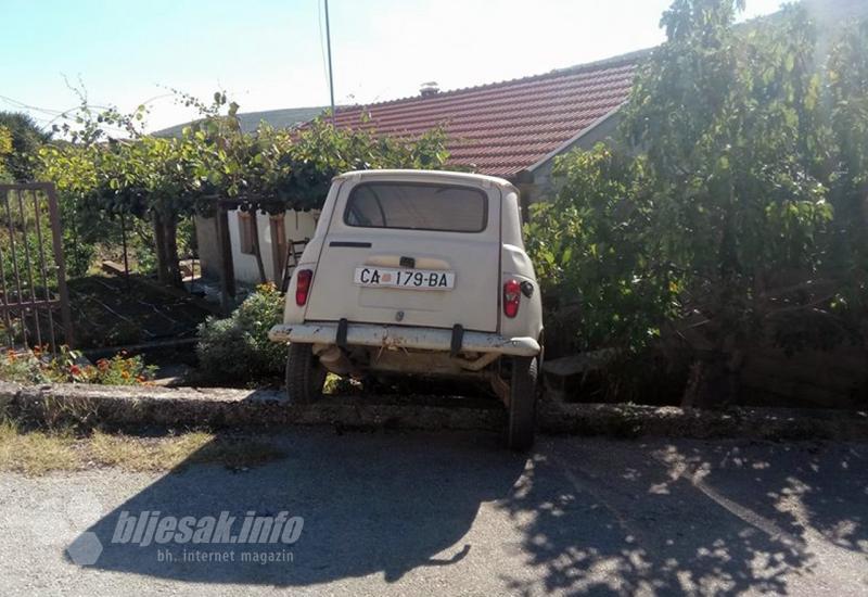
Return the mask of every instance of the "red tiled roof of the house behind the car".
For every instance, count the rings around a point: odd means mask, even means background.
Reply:
[[[436,126],[450,163],[512,176],[621,105],[644,52],[514,80],[336,111],[339,127],[412,137]],[[362,115],[367,113],[369,120]]]

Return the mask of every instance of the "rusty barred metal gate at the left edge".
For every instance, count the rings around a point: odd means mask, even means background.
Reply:
[[[73,345],[54,186],[0,185],[0,346]]]

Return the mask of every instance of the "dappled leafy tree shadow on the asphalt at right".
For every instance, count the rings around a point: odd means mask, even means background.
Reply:
[[[536,573],[505,579],[512,592],[783,594],[796,582],[812,594],[839,570],[865,571],[840,581],[845,594],[868,592],[867,445],[627,445],[536,457],[501,504],[531,518],[523,549]]]

